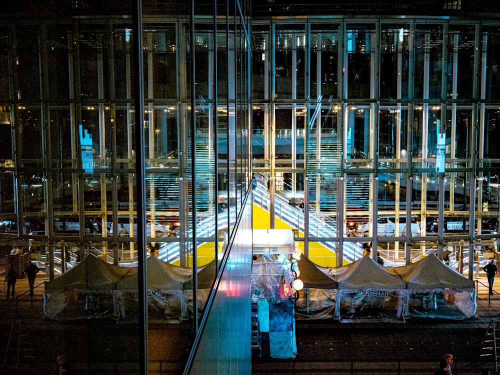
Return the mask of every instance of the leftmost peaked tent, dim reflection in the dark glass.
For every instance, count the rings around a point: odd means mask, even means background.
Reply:
[[[86,256],[67,272],[45,281],[45,316],[57,320],[111,316],[115,284],[129,271],[95,255]]]

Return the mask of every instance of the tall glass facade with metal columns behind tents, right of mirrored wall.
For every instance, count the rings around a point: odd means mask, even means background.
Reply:
[[[292,18],[252,21],[252,170],[334,228],[310,258],[496,245],[496,20]]]

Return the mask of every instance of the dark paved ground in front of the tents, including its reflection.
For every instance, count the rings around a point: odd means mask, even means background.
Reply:
[[[25,363],[31,366],[31,373],[52,373],[54,356],[60,352],[72,359],[77,374],[115,373],[99,367],[109,366],[110,363],[123,368],[116,373],[137,373],[133,369],[138,355],[136,324],[116,324],[110,319],[46,320],[43,316],[44,276],[42,272],[37,274],[32,297],[29,296],[26,277],[16,282],[16,298],[5,300],[5,293],[1,291],[2,359],[12,323],[22,321],[37,358],[35,363]],[[490,320],[500,318],[500,294],[495,292],[489,295],[486,277],[475,280],[478,285],[476,317],[459,321],[408,318],[405,323],[297,320],[296,357],[280,360],[254,356],[252,373],[423,375],[433,373],[437,362],[449,352],[456,358],[457,370],[453,375],[480,374],[481,368],[488,368],[494,375],[492,357],[488,359],[481,355],[484,354],[484,339]],[[494,288],[500,291],[500,276],[495,278]],[[169,352],[188,350],[188,330],[180,324],[150,326],[149,360],[171,364],[167,357]],[[170,371],[163,369],[162,373],[180,372],[177,368]]]

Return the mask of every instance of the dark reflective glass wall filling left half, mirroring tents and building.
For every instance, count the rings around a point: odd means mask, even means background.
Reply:
[[[57,354],[66,355],[78,373],[146,368],[206,373],[200,363],[223,373],[227,368],[249,373],[248,6],[245,1],[5,4],[0,17],[5,249],[28,251],[43,265],[47,284],[60,274],[74,275],[86,256],[139,268],[138,290],[131,295],[135,311],[125,305],[118,314],[108,310],[97,316],[91,311],[105,297],[80,290],[74,300],[64,300],[66,307],[81,306],[87,319],[62,321],[58,314],[56,321],[26,326],[54,345],[40,345],[46,346],[37,355],[39,373],[52,372]],[[148,284],[154,277],[145,262],[149,245],[161,261],[184,272],[213,268],[203,290],[193,277],[194,287],[191,283],[177,295],[187,309],[177,324],[158,324],[158,314],[164,322],[173,313],[164,303],[168,290],[139,291],[143,275]],[[216,296],[206,291],[212,284]],[[46,290],[45,312],[55,295]],[[205,316],[209,311],[215,312]],[[116,318],[128,321],[116,324]],[[218,319],[227,324],[217,326]],[[2,331],[9,329],[5,322]],[[225,350],[214,352],[204,344],[207,352],[190,354],[203,330]]]

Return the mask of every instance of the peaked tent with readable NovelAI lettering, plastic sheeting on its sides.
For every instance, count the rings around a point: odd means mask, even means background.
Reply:
[[[369,255],[329,268],[338,282],[336,316],[345,321],[404,321],[406,284]]]

